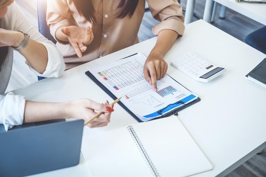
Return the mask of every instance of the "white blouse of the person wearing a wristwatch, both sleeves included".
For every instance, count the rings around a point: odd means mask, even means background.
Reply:
[[[54,43],[40,34],[27,20],[17,4],[14,2],[8,7],[7,14],[0,19],[0,28],[7,30],[22,30],[30,35],[30,38],[42,43],[48,52],[48,64],[43,74],[36,72],[29,64],[29,68],[38,76],[59,77],[65,64],[62,55],[55,47]],[[20,125],[24,119],[25,97],[14,95],[12,92],[5,94],[10,79],[13,64],[13,49],[9,48],[6,61],[0,71],[0,123],[3,123],[8,130],[14,125]]]

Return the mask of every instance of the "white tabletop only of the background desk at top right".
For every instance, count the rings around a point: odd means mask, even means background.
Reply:
[[[239,2],[235,0],[214,0],[240,14],[266,25],[266,4]]]

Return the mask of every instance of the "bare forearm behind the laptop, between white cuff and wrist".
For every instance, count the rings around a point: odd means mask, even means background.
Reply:
[[[70,118],[68,104],[26,101],[24,123]]]

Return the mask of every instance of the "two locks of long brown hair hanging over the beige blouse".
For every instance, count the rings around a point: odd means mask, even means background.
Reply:
[[[120,0],[118,5],[117,18],[124,18],[126,16],[132,17],[139,0]],[[96,23],[95,9],[91,0],[73,0],[75,7],[80,15],[84,16],[89,22]]]

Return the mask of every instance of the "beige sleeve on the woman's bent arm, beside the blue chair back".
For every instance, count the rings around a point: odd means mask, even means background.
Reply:
[[[50,27],[52,36],[62,44],[69,42],[61,41],[55,36],[56,30],[61,26],[75,25],[75,21],[66,0],[48,0],[46,11],[47,25]]]

